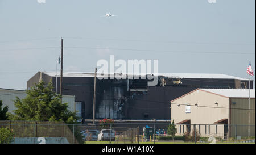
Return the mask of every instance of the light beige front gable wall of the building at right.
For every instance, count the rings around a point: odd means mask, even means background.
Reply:
[[[214,104],[216,102],[218,103],[218,106]],[[184,97],[174,100],[172,103],[174,104],[171,105],[171,121],[174,120],[174,123],[179,123],[185,119],[190,119],[191,124],[212,124],[210,125],[210,131],[209,125],[207,125],[206,128],[204,125],[200,126],[201,136],[216,135],[217,124],[214,125],[214,122],[221,119],[228,119],[227,108],[229,106],[229,98],[221,97],[220,95],[215,95],[205,91],[196,90],[191,94],[185,95]],[[180,107],[178,107],[177,104],[180,104]],[[184,104],[192,105],[191,113],[185,113]],[[198,107],[196,107],[195,104],[198,104]],[[196,126],[196,129],[199,130],[199,125]],[[192,126],[191,130],[193,130]],[[218,125],[216,136],[224,137],[223,124]]]

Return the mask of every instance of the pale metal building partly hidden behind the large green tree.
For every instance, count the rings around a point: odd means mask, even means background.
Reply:
[[[13,113],[13,110],[16,109],[14,106],[13,100],[16,99],[16,97],[19,97],[20,99],[26,98],[27,93],[25,90],[14,90],[14,89],[2,89],[0,88],[0,100],[2,100],[3,106],[8,106],[8,112]],[[62,103],[68,103],[69,110],[74,112],[75,107],[75,96],[72,95],[63,95]]]

